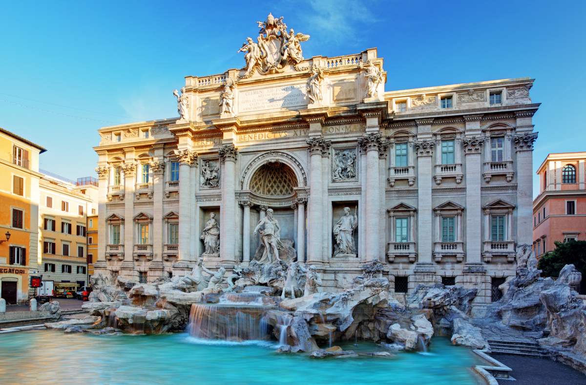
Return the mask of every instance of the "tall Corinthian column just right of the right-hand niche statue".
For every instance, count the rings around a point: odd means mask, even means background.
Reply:
[[[362,151],[366,152],[366,259],[379,260],[380,199],[379,199],[379,148],[383,145],[380,132],[364,134],[358,139]]]

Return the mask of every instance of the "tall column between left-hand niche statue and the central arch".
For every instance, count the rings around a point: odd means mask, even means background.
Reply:
[[[236,262],[236,156],[238,150],[233,144],[219,149],[222,161],[222,222],[220,222],[220,260]]]

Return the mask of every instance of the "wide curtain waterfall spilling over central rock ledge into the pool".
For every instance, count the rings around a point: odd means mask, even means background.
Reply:
[[[268,338],[266,308],[258,305],[192,304],[189,334],[232,341]]]

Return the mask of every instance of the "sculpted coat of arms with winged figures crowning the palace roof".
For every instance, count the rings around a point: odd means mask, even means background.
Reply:
[[[240,76],[241,78],[251,77],[257,70],[263,75],[282,72],[287,64],[292,64],[297,71],[307,70],[299,63],[303,61],[301,43],[309,40],[309,35],[295,33],[292,28],[287,32],[283,17],[275,19],[271,13],[268,14],[266,21],[257,24],[257,41],[250,37],[246,38],[246,43],[238,50],[245,52],[246,60],[246,72]]]

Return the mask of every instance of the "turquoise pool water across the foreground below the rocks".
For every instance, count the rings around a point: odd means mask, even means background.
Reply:
[[[352,345],[345,345],[345,349]],[[434,338],[427,354],[311,359],[272,342],[209,343],[187,334],[94,336],[30,331],[0,336],[0,382],[61,384],[478,384],[471,350]],[[379,351],[360,343],[360,352]]]

